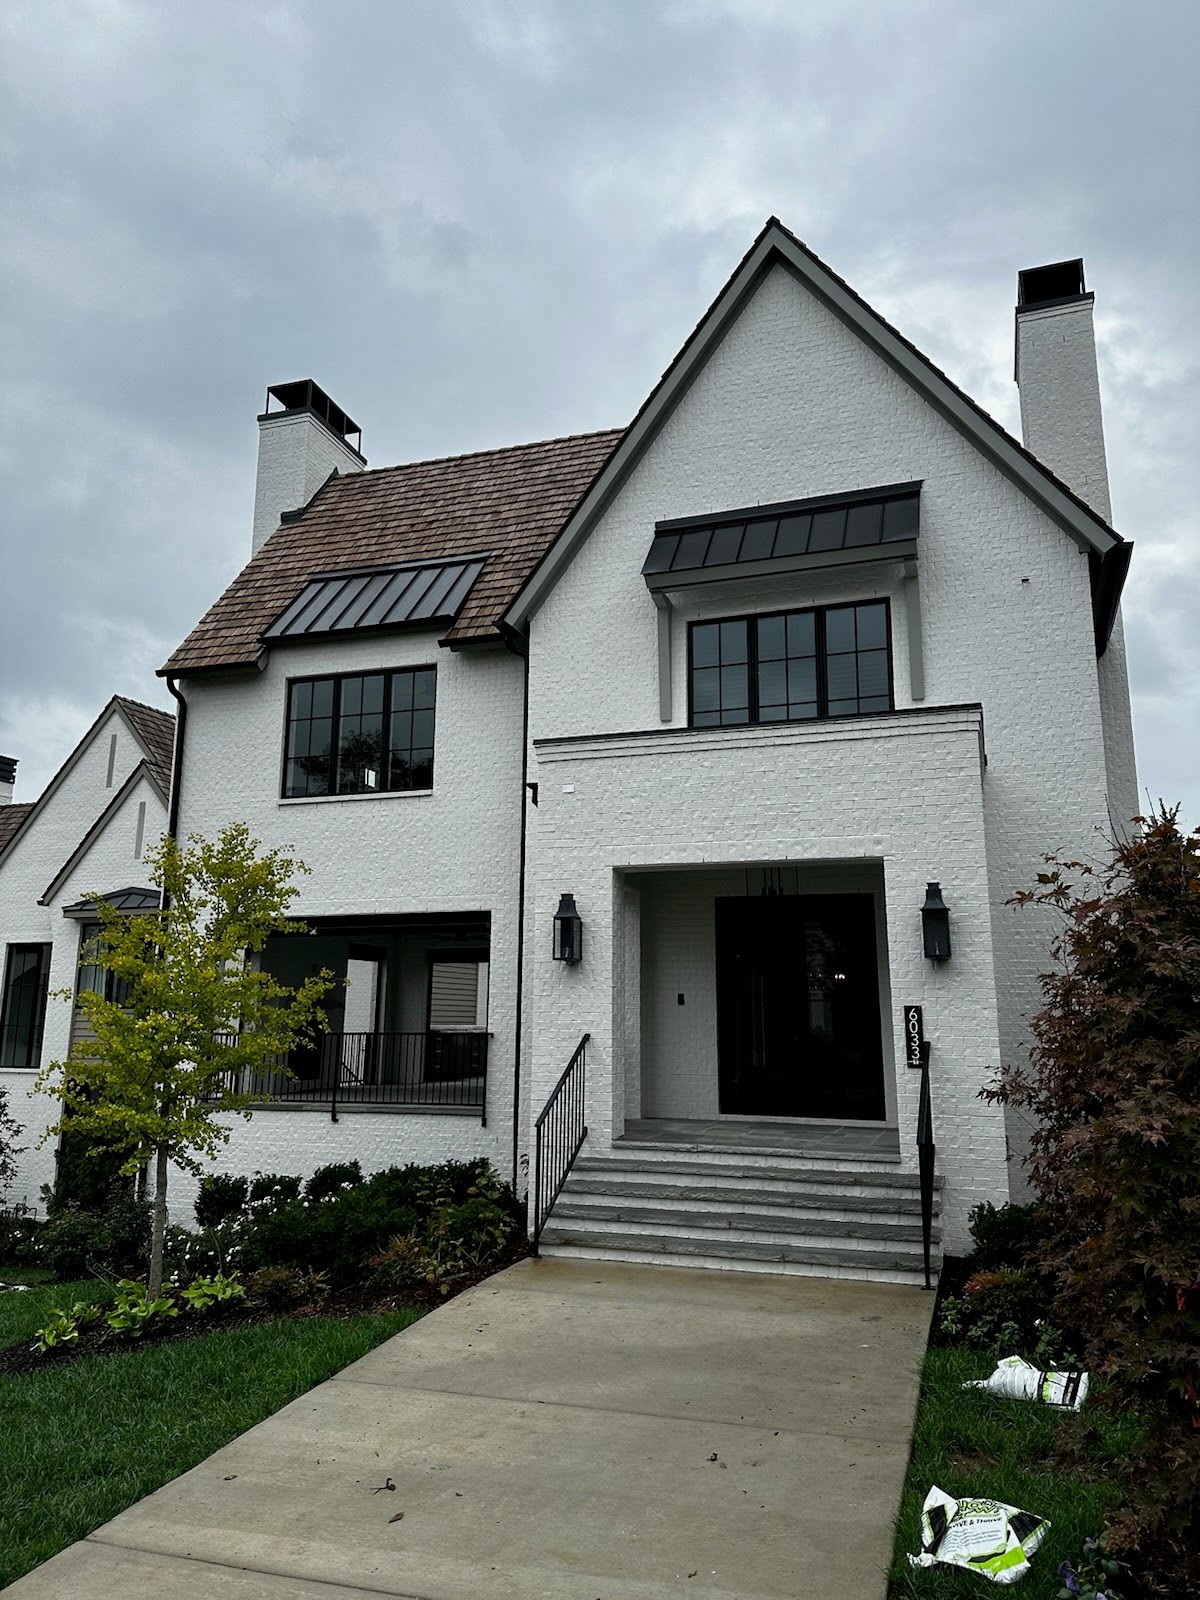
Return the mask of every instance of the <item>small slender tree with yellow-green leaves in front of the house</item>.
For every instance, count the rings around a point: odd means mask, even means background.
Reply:
[[[200,1173],[229,1139],[230,1114],[250,1117],[286,1053],[325,1022],[328,971],[291,989],[259,968],[272,934],[302,934],[288,920],[307,867],[270,850],[242,822],[216,840],[163,838],[147,853],[162,909],[122,915],[94,898],[101,923],[88,958],[118,979],[120,998],[82,992],[93,1038],[51,1062],[37,1088],[62,1102],[46,1138],[67,1126],[125,1152],[122,1171],[154,1165],[150,1296],[163,1280],[170,1163]],[[70,990],[61,998],[70,1000]]]

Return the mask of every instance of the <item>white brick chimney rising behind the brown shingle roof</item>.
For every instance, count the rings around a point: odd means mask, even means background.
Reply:
[[[272,411],[277,402],[280,410]],[[354,438],[354,443],[350,440]],[[362,429],[310,378],[272,384],[258,419],[258,483],[251,555],[278,528],[285,510],[306,506],[328,475],[362,472]]]

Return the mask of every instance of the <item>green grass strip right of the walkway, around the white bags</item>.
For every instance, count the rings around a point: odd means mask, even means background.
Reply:
[[[984,1494],[1048,1517],[1053,1528],[1021,1581],[1022,1600],[1058,1595],[1058,1565],[1075,1558],[1085,1538],[1102,1525],[1112,1488],[1056,1470],[1051,1462],[1061,1413],[1019,1400],[998,1400],[963,1389],[968,1378],[987,1378],[995,1362],[965,1347],[930,1350],[922,1370],[922,1395],[912,1459],[904,1482],[896,1549],[891,1563],[893,1600],[982,1600],[1002,1592],[974,1573],[952,1566],[912,1568],[909,1552],[920,1549],[920,1509],[931,1485],[955,1499]],[[1107,1422],[1101,1462],[1117,1459],[1136,1437],[1136,1424]]]

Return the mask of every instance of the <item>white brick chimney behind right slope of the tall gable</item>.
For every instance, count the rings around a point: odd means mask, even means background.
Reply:
[[[1093,299],[1082,261],[1018,274],[1014,376],[1026,450],[1112,522]]]

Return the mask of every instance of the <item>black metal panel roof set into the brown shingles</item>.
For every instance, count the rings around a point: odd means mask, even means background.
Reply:
[[[262,638],[451,621],[483,571],[483,562],[485,557],[480,555],[466,562],[325,573],[301,589],[270,627],[264,629]]]

